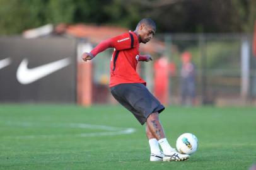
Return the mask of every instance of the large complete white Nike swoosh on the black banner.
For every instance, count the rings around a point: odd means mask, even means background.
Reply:
[[[58,71],[59,69],[62,69],[63,67],[66,67],[70,63],[71,60],[66,58],[51,62],[49,64],[40,65],[33,69],[28,69],[28,59],[23,59],[17,69],[16,77],[18,82],[21,84],[30,84],[38,79],[41,79],[42,77]]]

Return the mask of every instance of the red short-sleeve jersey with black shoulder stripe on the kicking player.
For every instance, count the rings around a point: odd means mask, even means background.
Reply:
[[[111,40],[115,49],[110,62],[110,88],[122,83],[143,83],[146,86],[146,82],[136,72],[139,60],[137,35],[129,31]]]

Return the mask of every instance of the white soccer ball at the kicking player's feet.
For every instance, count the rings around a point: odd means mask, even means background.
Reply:
[[[183,133],[176,141],[176,148],[180,154],[193,154],[197,150],[197,137],[192,133]]]

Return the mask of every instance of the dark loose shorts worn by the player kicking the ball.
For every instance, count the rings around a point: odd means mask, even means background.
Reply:
[[[111,93],[121,105],[131,111],[143,125],[151,113],[161,113],[165,107],[141,83],[125,83],[113,86]]]

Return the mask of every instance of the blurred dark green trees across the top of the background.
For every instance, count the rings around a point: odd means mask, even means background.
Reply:
[[[86,23],[135,28],[141,18],[158,32],[252,32],[253,0],[0,0],[0,35],[47,23]]]

